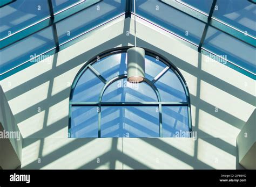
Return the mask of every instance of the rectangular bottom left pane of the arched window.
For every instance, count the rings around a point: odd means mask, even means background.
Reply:
[[[71,138],[97,138],[98,112],[96,106],[72,106]]]

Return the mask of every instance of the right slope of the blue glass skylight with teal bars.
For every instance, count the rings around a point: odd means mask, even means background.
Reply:
[[[215,4],[213,4],[215,3]],[[212,17],[208,21],[212,9]],[[240,0],[136,0],[136,14],[255,79],[256,5]],[[205,38],[202,39],[205,32]]]

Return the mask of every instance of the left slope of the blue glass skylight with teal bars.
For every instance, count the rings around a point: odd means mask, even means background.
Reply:
[[[124,13],[125,4],[125,1],[119,0],[52,0],[53,13],[55,13],[54,21],[57,21],[57,31],[54,32],[58,34],[55,40],[59,41],[61,45],[70,39],[75,39],[71,42],[73,44],[73,42],[79,40],[78,36],[81,33],[90,31],[93,27],[104,23],[104,21]],[[30,66],[32,63],[26,62],[29,59],[24,53],[29,53],[29,56],[32,56],[33,54],[48,52],[53,40],[49,40],[49,44],[44,45],[42,41],[31,41],[31,39],[41,35],[44,30],[52,29],[49,7],[48,0],[18,0],[1,8],[0,74],[10,70],[11,73],[7,75],[9,76],[16,73],[17,69],[15,68],[19,66],[21,66],[19,69]],[[48,35],[48,38],[52,39],[53,33],[51,33],[51,37],[50,34]],[[27,49],[21,48],[21,44],[23,45],[26,42],[30,42],[32,45],[28,46]],[[53,47],[56,47],[57,43],[54,43],[54,45]],[[16,49],[17,53],[10,55],[10,52],[15,53],[12,51],[13,49]],[[52,54],[52,52],[49,52],[49,54]],[[13,61],[15,56],[17,59]],[[9,62],[12,63],[9,64]],[[2,77],[5,77],[5,75],[1,75],[0,79]]]

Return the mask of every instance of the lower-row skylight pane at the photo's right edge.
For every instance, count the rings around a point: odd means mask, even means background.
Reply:
[[[256,49],[230,35],[209,26],[203,47],[256,73]]]

